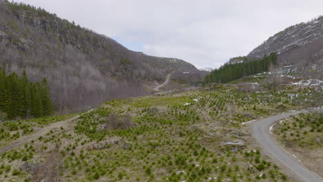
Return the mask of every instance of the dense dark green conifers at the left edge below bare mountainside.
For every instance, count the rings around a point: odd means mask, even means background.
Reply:
[[[8,119],[51,114],[52,101],[46,79],[33,83],[28,81],[25,71],[19,77],[15,72],[7,75],[0,68],[0,111],[5,112]]]

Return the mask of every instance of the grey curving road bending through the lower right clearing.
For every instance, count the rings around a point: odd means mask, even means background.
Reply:
[[[309,111],[301,110],[295,112],[288,112],[273,117],[268,117],[260,121],[255,121],[253,122],[253,125],[251,125],[251,130],[253,137],[260,143],[264,152],[277,159],[277,161],[280,161],[282,164],[286,165],[286,167],[289,168],[292,172],[294,172],[296,176],[300,177],[300,181],[322,182],[323,179],[320,176],[318,176],[314,172],[311,172],[306,167],[304,167],[304,165],[300,164],[298,161],[293,159],[293,157],[286,154],[286,152],[284,152],[284,150],[282,150],[282,148],[280,148],[280,146],[278,146],[277,143],[275,143],[274,139],[271,137],[271,134],[269,132],[269,128],[276,121],[306,112]]]

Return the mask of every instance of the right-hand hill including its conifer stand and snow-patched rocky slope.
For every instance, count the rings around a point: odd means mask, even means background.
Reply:
[[[268,62],[271,54],[275,54],[275,59]],[[268,72],[266,79],[271,79],[269,82],[295,83],[308,79],[309,84],[320,85],[323,79],[323,17],[278,32],[246,57],[231,58],[208,74],[204,83],[224,83],[261,72]]]

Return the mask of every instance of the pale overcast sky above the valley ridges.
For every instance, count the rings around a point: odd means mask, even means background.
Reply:
[[[16,0],[126,48],[218,68],[273,34],[323,14],[322,0]]]

